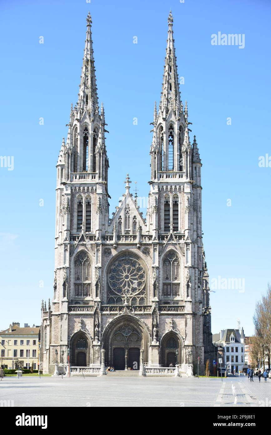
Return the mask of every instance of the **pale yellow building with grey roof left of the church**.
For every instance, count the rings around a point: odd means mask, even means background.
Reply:
[[[13,322],[8,329],[0,331],[0,365],[2,368],[14,369],[16,361],[23,361],[23,368],[34,370],[39,366],[40,327],[31,328],[25,324]]]

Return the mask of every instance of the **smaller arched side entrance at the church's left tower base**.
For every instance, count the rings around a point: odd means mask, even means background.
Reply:
[[[86,367],[91,363],[91,341],[84,331],[76,332],[70,339],[70,365]]]

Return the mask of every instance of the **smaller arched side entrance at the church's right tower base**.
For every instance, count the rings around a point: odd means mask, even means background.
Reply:
[[[176,355],[177,351],[177,355]],[[169,367],[182,363],[182,341],[174,331],[166,333],[161,340],[160,364]]]

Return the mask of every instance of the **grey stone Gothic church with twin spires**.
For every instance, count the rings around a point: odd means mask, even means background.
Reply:
[[[69,361],[71,369],[101,374],[106,365],[141,374],[178,365],[185,372],[199,358],[202,372],[212,350],[202,163],[180,97],[172,13],[153,114],[146,218],[128,174],[109,218],[108,131],[89,14],[86,23],[78,102],[56,165],[54,294],[47,307],[42,302],[40,368],[53,373],[56,361]]]

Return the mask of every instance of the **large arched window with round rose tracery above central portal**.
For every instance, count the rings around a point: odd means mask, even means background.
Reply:
[[[135,258],[125,255],[111,267],[108,276],[108,304],[145,304],[146,273]]]

